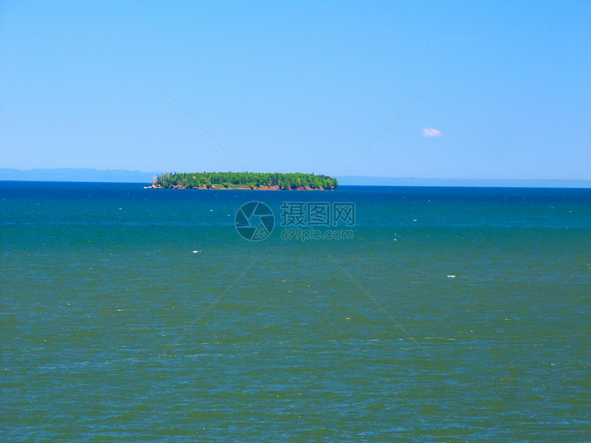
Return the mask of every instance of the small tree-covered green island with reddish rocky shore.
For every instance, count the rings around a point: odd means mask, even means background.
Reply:
[[[244,189],[244,190],[334,190],[337,179],[315,174],[266,172],[182,172],[157,176],[148,188]]]

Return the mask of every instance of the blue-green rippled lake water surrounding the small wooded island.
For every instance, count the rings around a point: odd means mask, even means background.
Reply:
[[[283,201],[355,203],[354,238],[282,239]],[[3,441],[591,441],[591,190],[0,182],[0,208]]]

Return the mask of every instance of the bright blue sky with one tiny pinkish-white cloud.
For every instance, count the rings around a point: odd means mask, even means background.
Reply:
[[[338,177],[428,87],[346,175],[591,179],[588,0],[0,1],[0,168]]]

